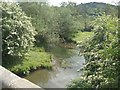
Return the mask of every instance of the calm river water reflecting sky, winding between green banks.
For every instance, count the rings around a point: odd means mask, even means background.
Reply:
[[[79,48],[66,49],[55,47],[51,49],[54,54],[53,70],[41,69],[24,77],[42,88],[65,88],[71,80],[80,77],[84,57],[78,56]]]

